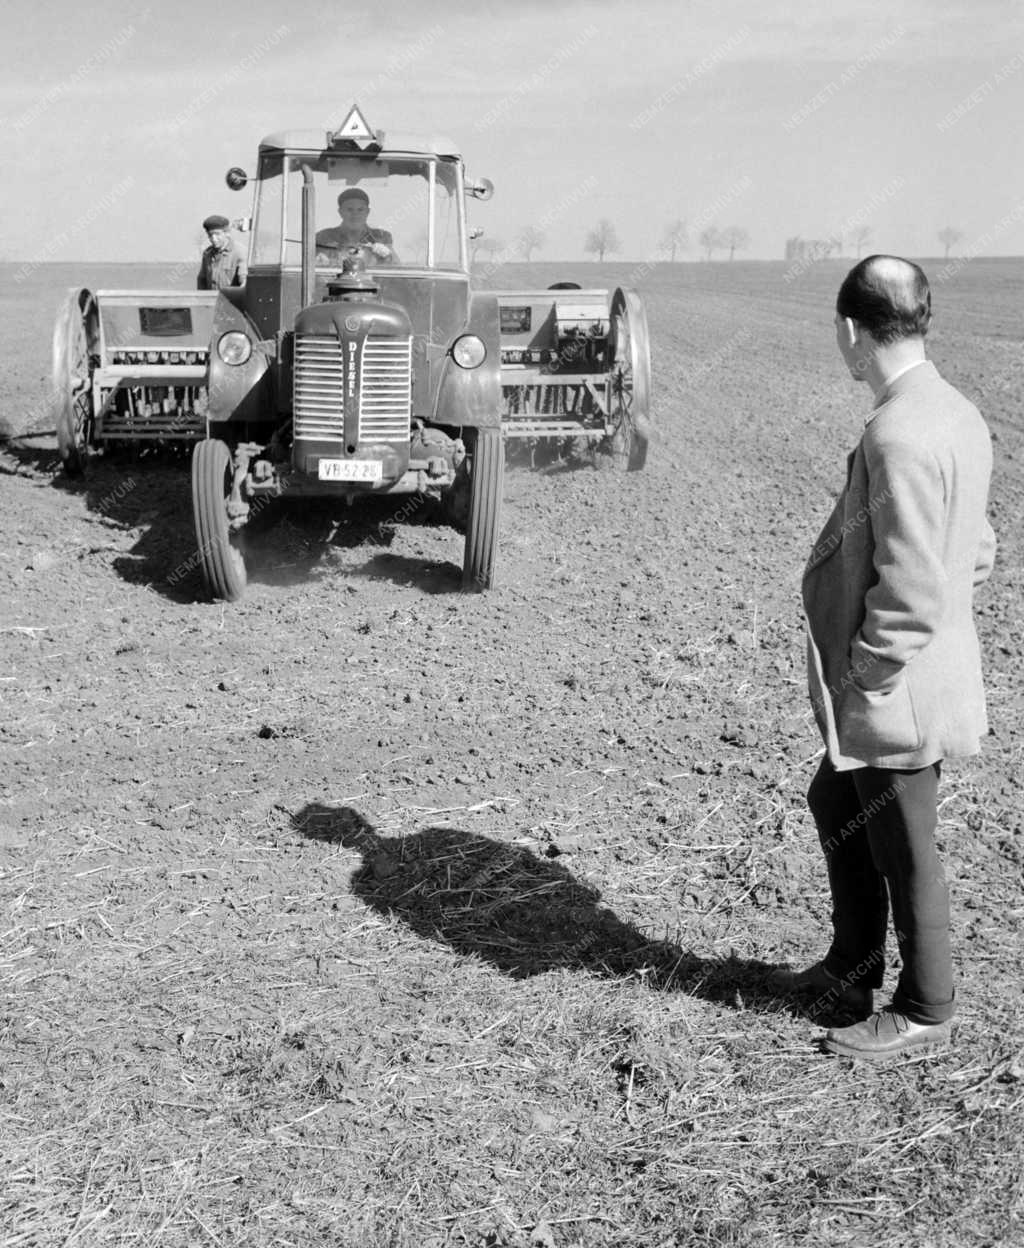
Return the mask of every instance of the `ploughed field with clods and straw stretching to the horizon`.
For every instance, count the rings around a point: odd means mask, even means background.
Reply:
[[[937,282],[929,339],[997,438],[957,1042],[828,1060],[766,982],[828,931],[799,572],[869,406],[846,267],[495,275],[637,286],[656,438],[516,456],[488,594],[400,502],[317,504],[211,603],[185,459],[0,448],[0,1244],[1024,1243],[1024,262]],[[167,271],[14,273],[0,421],[45,432],[64,288]]]

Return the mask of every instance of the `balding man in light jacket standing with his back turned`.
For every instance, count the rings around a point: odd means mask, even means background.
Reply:
[[[896,256],[849,271],[836,338],[874,409],[803,575],[808,683],[826,756],[807,795],[828,867],[832,945],[778,987],[842,1006],[832,1053],[944,1045],[954,1011],[949,892],[935,850],[943,759],[988,733],[973,593],[992,570],[984,421],[924,356],[928,280]],[[902,970],[873,1012],[892,905]]]

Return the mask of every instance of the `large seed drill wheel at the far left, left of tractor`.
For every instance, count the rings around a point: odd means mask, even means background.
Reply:
[[[92,437],[92,373],[100,359],[100,314],[90,291],[77,287],[65,296],[54,323],[52,392],[57,447],[64,470],[85,470]]]

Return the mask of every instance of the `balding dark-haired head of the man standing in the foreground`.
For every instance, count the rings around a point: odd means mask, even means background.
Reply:
[[[836,311],[886,344],[923,338],[932,319],[932,292],[924,271],[899,256],[868,256],[846,276]]]

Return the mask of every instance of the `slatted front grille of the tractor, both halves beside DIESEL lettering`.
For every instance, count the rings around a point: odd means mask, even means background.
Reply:
[[[297,438],[344,438],[343,342],[333,334],[296,334],[293,427]],[[413,339],[363,341],[359,371],[359,442],[409,441]]]

